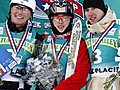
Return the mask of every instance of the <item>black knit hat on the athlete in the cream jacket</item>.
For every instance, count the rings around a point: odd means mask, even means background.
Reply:
[[[84,0],[83,8],[84,10],[89,7],[96,7],[101,9],[104,13],[106,13],[107,9],[105,8],[105,4],[103,0]]]

